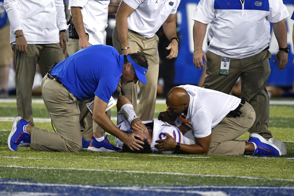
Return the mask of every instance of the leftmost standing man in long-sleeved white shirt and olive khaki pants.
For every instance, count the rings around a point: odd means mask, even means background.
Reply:
[[[5,0],[10,43],[16,62],[18,115],[33,122],[32,85],[38,63],[44,77],[52,62],[66,53],[66,19],[62,0]]]

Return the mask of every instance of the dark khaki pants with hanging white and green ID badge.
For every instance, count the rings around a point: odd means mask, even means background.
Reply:
[[[203,86],[229,94],[238,77],[241,77],[241,95],[252,105],[256,113],[256,120],[248,132],[260,134],[266,139],[273,137],[268,130],[269,95],[266,81],[270,74],[269,58],[271,54],[268,50],[247,58],[231,58],[229,74],[220,75],[221,56],[208,51]]]

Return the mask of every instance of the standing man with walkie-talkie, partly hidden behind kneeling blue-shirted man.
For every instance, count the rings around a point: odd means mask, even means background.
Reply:
[[[109,4],[110,0],[70,0],[69,9],[72,17],[72,23],[76,34],[68,39],[68,54],[97,44],[106,43],[106,31],[108,13],[116,13],[118,5]],[[71,20],[71,19],[70,19]],[[70,27],[72,28],[72,27]],[[87,100],[79,100],[80,127],[83,138],[86,141],[91,140],[92,133],[100,134],[94,136],[102,137],[104,130],[92,120],[92,114],[86,106]],[[110,110],[107,111],[110,118]],[[86,147],[84,144],[83,148]]]

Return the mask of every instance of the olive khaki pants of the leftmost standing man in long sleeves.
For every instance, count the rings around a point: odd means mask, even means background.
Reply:
[[[53,61],[64,60],[63,50],[59,43],[28,44],[28,54],[25,54],[17,51],[15,44],[11,45],[16,63],[17,112],[26,121],[33,122],[32,86],[36,74],[36,65],[38,63],[42,77],[44,77]]]

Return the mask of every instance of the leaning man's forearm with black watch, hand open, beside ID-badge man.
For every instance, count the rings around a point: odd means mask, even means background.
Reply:
[[[175,21],[175,14],[170,14],[166,21],[164,21],[163,25],[163,31],[165,36],[168,38],[168,40],[171,40],[171,38],[176,37],[176,21]],[[173,39],[171,40],[171,43],[168,45],[168,47],[165,48],[166,50],[171,50],[171,53],[166,57],[167,59],[176,58],[178,56],[179,52],[179,43],[177,40]]]

